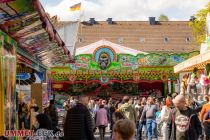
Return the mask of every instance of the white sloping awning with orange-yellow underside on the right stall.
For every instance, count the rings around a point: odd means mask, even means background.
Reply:
[[[193,71],[195,67],[198,69],[203,69],[208,63],[210,63],[210,50],[174,66],[174,72],[180,73]]]

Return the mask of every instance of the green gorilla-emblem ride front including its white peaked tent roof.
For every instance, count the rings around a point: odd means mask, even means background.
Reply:
[[[145,53],[100,40],[76,50],[75,63],[51,68],[52,90],[69,95],[161,97],[175,91],[173,66],[197,55]]]

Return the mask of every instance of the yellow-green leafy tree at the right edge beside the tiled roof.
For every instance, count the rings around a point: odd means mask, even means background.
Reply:
[[[210,12],[210,2],[205,8],[197,12],[194,15],[196,17],[195,20],[189,23],[195,35],[197,45],[201,45],[206,39],[206,16],[208,12]]]

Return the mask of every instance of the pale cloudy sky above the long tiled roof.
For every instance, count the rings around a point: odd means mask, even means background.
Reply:
[[[41,0],[45,11],[51,16],[57,15],[62,21],[75,21],[95,18],[105,21],[140,21],[148,17],[158,18],[160,14],[169,20],[189,20],[199,9],[204,8],[210,0]],[[81,11],[69,11],[69,7],[82,2]],[[83,15],[83,16],[80,16]]]

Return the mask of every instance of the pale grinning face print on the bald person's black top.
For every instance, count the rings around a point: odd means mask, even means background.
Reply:
[[[184,115],[179,115],[175,120],[176,128],[179,132],[185,132],[189,128],[189,118]]]

